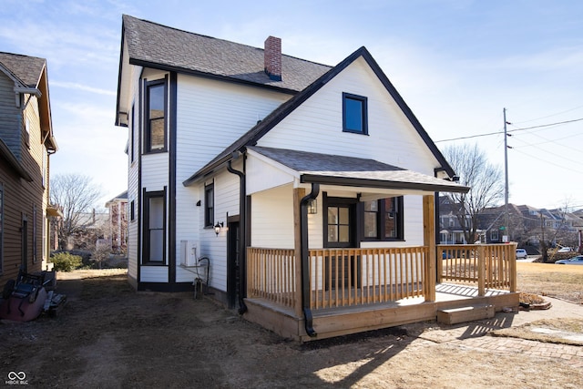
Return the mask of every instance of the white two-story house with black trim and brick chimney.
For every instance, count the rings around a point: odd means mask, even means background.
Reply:
[[[135,288],[192,290],[204,256],[214,298],[294,339],[435,318],[435,192],[468,188],[366,48],[328,67],[124,15],[118,80]]]

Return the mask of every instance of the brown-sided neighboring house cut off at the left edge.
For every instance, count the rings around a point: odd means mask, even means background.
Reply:
[[[46,60],[0,53],[0,285],[46,269],[49,156],[56,151]]]

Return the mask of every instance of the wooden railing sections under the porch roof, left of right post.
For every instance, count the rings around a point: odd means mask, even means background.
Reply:
[[[293,307],[293,250],[247,249],[247,296]],[[423,246],[309,251],[310,307],[394,302],[424,295]]]

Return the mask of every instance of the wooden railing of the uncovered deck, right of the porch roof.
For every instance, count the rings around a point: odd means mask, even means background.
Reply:
[[[476,284],[517,292],[517,243],[437,245],[437,282]],[[439,260],[441,259],[441,260]]]

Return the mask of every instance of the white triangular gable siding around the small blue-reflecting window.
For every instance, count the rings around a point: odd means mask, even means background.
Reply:
[[[343,92],[367,97],[368,136],[343,132]],[[434,175],[437,161],[360,58],[260,139],[257,146],[376,159]]]

